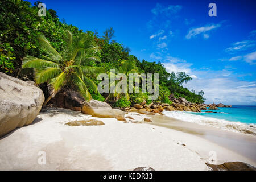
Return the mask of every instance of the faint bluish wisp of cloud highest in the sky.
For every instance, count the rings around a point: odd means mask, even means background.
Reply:
[[[182,9],[182,6],[180,5],[169,5],[168,7],[164,7],[160,3],[156,3],[156,6],[154,9],[151,10],[151,12],[155,15],[165,15],[170,16],[172,14],[176,14]]]

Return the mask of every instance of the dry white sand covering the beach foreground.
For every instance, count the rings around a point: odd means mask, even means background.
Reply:
[[[150,118],[126,115],[137,121]],[[0,170],[208,170],[209,151],[217,152],[218,162],[250,162],[203,138],[146,123],[94,118],[105,125],[64,125],[86,118],[93,117],[68,109],[40,113],[32,125],[0,139]],[[46,164],[38,163],[40,151],[46,154]]]

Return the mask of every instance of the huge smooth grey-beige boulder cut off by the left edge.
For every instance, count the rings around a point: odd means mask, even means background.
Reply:
[[[44,102],[43,91],[0,72],[0,137],[30,125]]]

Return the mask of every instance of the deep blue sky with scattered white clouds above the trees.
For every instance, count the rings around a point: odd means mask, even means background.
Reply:
[[[206,103],[256,105],[255,1],[42,2],[84,31],[113,27],[139,60],[193,77],[184,86],[204,90]],[[217,17],[208,15],[211,2]]]

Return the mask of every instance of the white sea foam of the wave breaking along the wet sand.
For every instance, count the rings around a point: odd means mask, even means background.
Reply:
[[[212,126],[218,129],[234,131],[237,133],[256,135],[256,125],[254,125],[253,123],[246,124],[241,122],[233,122],[225,119],[217,119],[205,117],[202,115],[185,113],[182,111],[163,111],[163,114],[168,117],[176,118],[185,122],[192,122],[197,123],[199,125]]]

